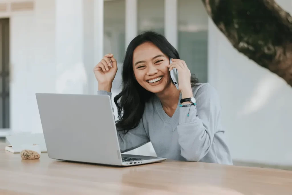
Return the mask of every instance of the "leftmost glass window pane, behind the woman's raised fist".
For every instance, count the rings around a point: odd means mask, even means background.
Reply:
[[[125,0],[104,1],[104,43],[103,53],[114,54],[118,72],[112,85],[112,92],[119,92],[121,65],[125,55]]]

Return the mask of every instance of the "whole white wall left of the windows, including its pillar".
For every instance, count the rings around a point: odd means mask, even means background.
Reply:
[[[34,2],[33,11],[7,14],[11,133],[42,132],[37,92],[93,94],[94,1]]]

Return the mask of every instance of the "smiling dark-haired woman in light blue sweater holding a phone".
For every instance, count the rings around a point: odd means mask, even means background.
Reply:
[[[179,90],[170,77],[173,68],[178,70]],[[105,55],[94,68],[98,94],[111,96],[116,73],[114,55]],[[130,42],[122,68],[122,91],[114,102],[121,152],[151,141],[161,157],[232,164],[215,89],[198,83],[162,35],[144,32]]]

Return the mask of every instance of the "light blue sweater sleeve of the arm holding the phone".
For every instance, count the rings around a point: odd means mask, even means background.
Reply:
[[[211,148],[221,106],[218,95],[210,84],[199,88],[195,99],[196,107],[180,107],[180,120],[177,130],[181,156],[187,161],[197,162]],[[187,116],[188,113],[189,116]]]

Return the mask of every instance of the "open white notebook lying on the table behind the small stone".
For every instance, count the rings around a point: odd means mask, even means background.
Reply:
[[[41,152],[47,152],[43,133],[19,133],[7,136],[6,139],[11,145],[6,146],[5,150],[12,153],[20,153],[20,146],[22,144],[39,144],[41,147]]]

